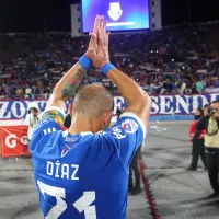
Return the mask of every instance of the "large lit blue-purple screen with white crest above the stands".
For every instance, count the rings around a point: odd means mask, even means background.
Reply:
[[[107,20],[107,31],[149,28],[149,0],[82,0],[82,27],[93,30],[97,14]]]

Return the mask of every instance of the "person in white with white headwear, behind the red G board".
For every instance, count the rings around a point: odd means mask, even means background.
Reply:
[[[35,102],[32,102],[28,104],[27,111],[28,113],[24,120],[24,125],[28,126],[27,137],[28,137],[28,141],[31,141],[34,128],[36,127],[39,119],[42,118],[42,112],[39,111],[38,105]]]

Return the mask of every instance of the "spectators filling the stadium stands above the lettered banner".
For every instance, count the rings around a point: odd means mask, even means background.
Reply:
[[[48,99],[78,61],[89,37],[69,33],[0,34],[0,99]],[[111,59],[150,94],[196,94],[219,88],[219,23],[112,34]],[[84,83],[114,84],[91,70]]]

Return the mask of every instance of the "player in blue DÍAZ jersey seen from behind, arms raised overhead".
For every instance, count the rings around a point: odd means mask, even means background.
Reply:
[[[146,137],[151,100],[108,58],[103,16],[96,16],[88,51],[57,83],[36,128],[31,151],[46,219],[125,219],[130,161]],[[74,97],[71,126],[61,130],[66,101],[91,65],[102,69],[130,103],[111,123],[113,97],[97,84]]]

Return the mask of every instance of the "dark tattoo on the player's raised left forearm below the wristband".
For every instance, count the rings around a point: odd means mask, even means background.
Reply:
[[[62,89],[61,91],[62,99],[70,99],[73,96],[84,74],[85,74],[85,69],[80,68],[78,72],[76,73],[76,76],[68,81],[65,89]]]

